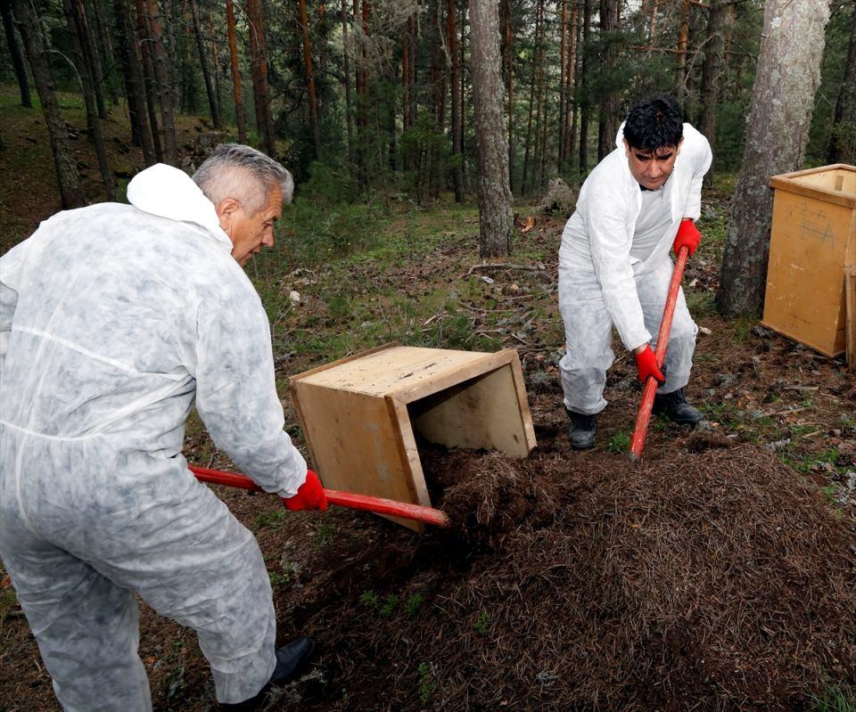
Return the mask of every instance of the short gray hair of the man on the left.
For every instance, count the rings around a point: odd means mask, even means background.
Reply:
[[[193,183],[215,206],[226,198],[243,205],[248,215],[264,208],[274,185],[290,203],[294,180],[276,160],[242,143],[220,143],[193,174]]]

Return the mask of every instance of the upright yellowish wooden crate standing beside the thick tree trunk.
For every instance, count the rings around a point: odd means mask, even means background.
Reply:
[[[826,356],[846,344],[844,269],[856,263],[856,168],[773,176],[762,323]]]

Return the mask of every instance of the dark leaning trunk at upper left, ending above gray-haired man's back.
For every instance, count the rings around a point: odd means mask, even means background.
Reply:
[[[29,68],[33,72],[45,126],[51,137],[53,150],[53,168],[56,169],[56,181],[60,188],[62,207],[81,208],[86,205],[86,196],[80,187],[78,166],[71,156],[69,132],[60,114],[60,105],[53,93],[53,78],[45,53],[45,38],[38,18],[33,13],[29,0],[12,0],[12,12],[19,23],[18,29],[27,53]]]

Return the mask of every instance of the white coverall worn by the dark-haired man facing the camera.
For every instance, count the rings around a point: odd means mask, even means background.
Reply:
[[[567,349],[559,366],[564,405],[577,413],[600,413],[606,406],[613,325],[629,350],[659,331],[673,268],[671,244],[684,217],[699,217],[702,179],[711,166],[707,139],[684,124],[671,176],[646,196],[643,210],[643,192],[630,173],[623,138],[622,124],[618,148],[582,185],[559,249],[559,310]],[[697,332],[680,291],[659,393],[687,385]]]

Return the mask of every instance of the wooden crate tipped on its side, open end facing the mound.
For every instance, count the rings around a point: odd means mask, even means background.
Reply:
[[[430,506],[416,433],[515,457],[535,446],[514,349],[485,354],[391,344],[293,376],[290,389],[309,458],[333,489]]]

